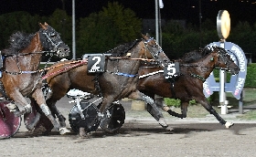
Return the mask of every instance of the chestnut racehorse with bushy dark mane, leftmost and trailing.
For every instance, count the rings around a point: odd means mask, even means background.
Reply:
[[[69,47],[61,40],[59,33],[47,23],[39,23],[39,26],[40,29],[35,34],[13,34],[9,39],[10,47],[2,51],[4,60],[1,93],[5,99],[12,99],[23,107],[18,110],[16,104],[7,104],[16,116],[31,112],[31,104],[25,97],[35,99],[54,127],[62,131],[46,105],[41,89],[44,71],[38,68],[44,53],[57,54],[63,58],[69,56]]]

